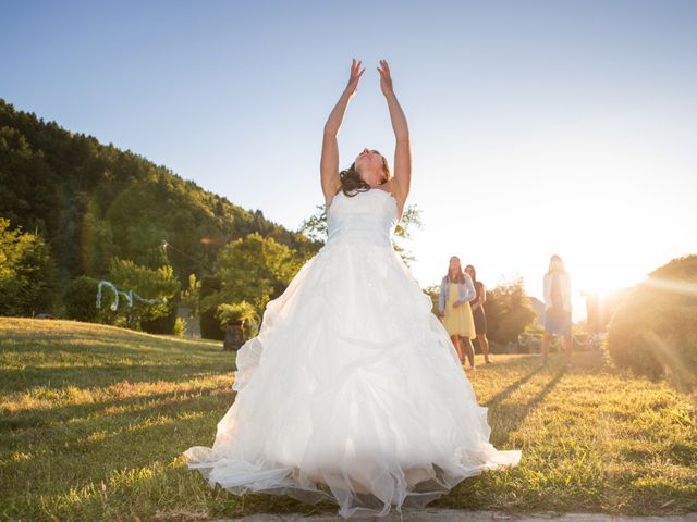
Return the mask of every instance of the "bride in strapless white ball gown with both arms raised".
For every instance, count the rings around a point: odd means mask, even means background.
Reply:
[[[184,453],[211,487],[331,500],[344,518],[382,517],[521,459],[489,443],[487,408],[430,298],[392,249],[409,190],[409,137],[388,64],[378,71],[396,137],[394,176],[368,149],[339,173],[337,135],[365,72],[354,60],[325,126],[327,243],[237,352],[237,395],[212,448]]]

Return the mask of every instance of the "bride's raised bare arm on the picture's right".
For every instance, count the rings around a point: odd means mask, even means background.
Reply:
[[[380,73],[380,88],[388,102],[392,129],[394,130],[394,138],[396,139],[396,146],[394,148],[394,182],[396,195],[402,199],[402,204],[404,204],[409,194],[409,185],[412,184],[409,127],[406,123],[404,111],[400,107],[400,102],[396,101],[396,96],[394,96],[392,76],[387,61],[380,60],[378,72]]]

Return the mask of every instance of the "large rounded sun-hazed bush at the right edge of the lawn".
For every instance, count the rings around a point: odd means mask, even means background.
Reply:
[[[650,377],[694,380],[697,372],[697,256],[653,271],[625,298],[608,327],[620,368]]]

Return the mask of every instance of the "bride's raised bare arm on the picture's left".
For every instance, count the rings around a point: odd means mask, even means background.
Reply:
[[[319,162],[319,172],[322,192],[325,194],[325,201],[327,204],[331,202],[331,198],[334,197],[334,194],[337,194],[341,187],[341,179],[339,178],[339,145],[337,144],[337,135],[339,134],[341,124],[344,121],[344,114],[346,112],[346,107],[348,107],[348,101],[351,101],[353,95],[358,90],[358,82],[360,82],[360,76],[363,76],[365,71],[365,67],[360,70],[360,62],[356,62],[354,59],[351,64],[348,84],[325,124],[322,157]]]

